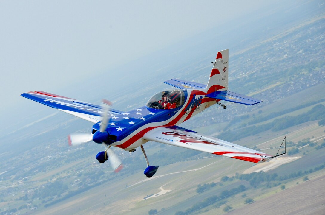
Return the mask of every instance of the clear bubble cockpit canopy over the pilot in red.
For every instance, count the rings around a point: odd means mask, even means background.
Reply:
[[[167,89],[153,95],[146,106],[155,109],[175,109],[181,107],[186,96],[183,89]]]

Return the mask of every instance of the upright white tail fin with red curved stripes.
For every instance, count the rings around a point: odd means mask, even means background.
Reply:
[[[229,49],[218,51],[208,85],[205,88],[207,93],[228,90],[228,58]]]

